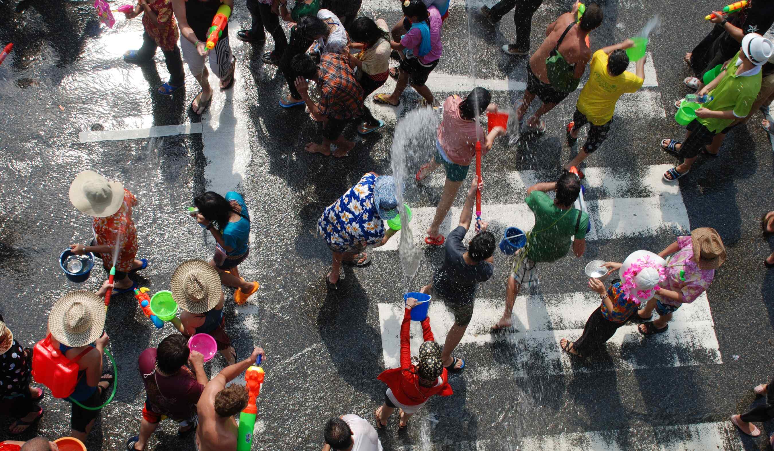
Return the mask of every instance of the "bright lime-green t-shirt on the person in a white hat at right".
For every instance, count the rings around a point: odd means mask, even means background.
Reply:
[[[754,75],[737,75],[739,63],[739,53],[737,53],[728,63],[720,83],[710,91],[709,94],[714,99],[704,104],[704,108],[712,111],[733,110],[737,118],[745,118],[750,114],[755,97],[758,97],[761,91],[761,71],[758,70]],[[714,133],[720,133],[734,121],[717,118],[697,118],[696,120]]]

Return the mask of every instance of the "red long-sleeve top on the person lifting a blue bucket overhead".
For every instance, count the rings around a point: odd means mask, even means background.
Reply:
[[[395,395],[396,400],[402,405],[420,405],[433,395],[452,395],[454,391],[449,385],[449,374],[446,368],[440,375],[441,384],[434,387],[420,385],[416,367],[411,364],[410,326],[411,310],[406,309],[403,313],[403,323],[400,325],[400,367],[382,371],[377,379],[392,389],[392,395]],[[422,321],[422,334],[425,341],[434,340],[433,330],[430,330],[430,317]]]

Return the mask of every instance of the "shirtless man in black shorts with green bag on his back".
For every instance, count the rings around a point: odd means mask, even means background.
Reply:
[[[527,88],[524,91],[522,104],[516,111],[516,116],[519,118],[520,123],[535,96],[540,97],[543,105],[527,121],[527,126],[533,132],[545,132],[546,123],[540,120],[540,116],[551,111],[560,101],[564,100],[564,97],[570,95],[568,92],[558,91],[549,83],[546,71],[546,58],[550,56],[551,50],[557,45],[567,26],[575,22],[577,9],[578,2],[575,2],[572,12],[565,12],[563,15],[560,15],[559,19],[546,28],[546,39],[540,44],[538,50],[533,53],[533,56],[529,58]],[[570,28],[570,31],[564,36],[559,46],[559,53],[562,54],[563,58],[568,63],[574,64],[575,70],[573,75],[575,78],[580,78],[583,75],[588,60],[591,60],[591,50],[589,50],[586,43],[586,36],[591,30],[600,26],[601,23],[602,9],[599,5],[596,3],[587,5],[586,12],[580,18],[580,23]]]

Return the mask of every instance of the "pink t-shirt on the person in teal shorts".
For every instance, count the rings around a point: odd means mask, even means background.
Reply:
[[[481,136],[481,154],[487,149],[484,145],[486,131],[476,121],[468,121],[460,117],[460,104],[463,99],[450,95],[444,101],[444,118],[438,125],[438,142],[444,148],[450,162],[460,166],[468,166],[476,155],[476,141]]]

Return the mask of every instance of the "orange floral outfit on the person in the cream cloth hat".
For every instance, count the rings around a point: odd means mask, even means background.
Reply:
[[[124,202],[114,214],[108,217],[95,217],[94,239],[98,246],[108,244],[115,247],[118,240],[118,232],[121,231],[121,248],[118,250],[118,260],[115,262],[115,270],[129,272],[137,255],[137,227],[132,221],[132,207],[137,205],[137,198],[129,190],[124,188]],[[100,254],[102,265],[110,269],[113,265],[113,255]]]

